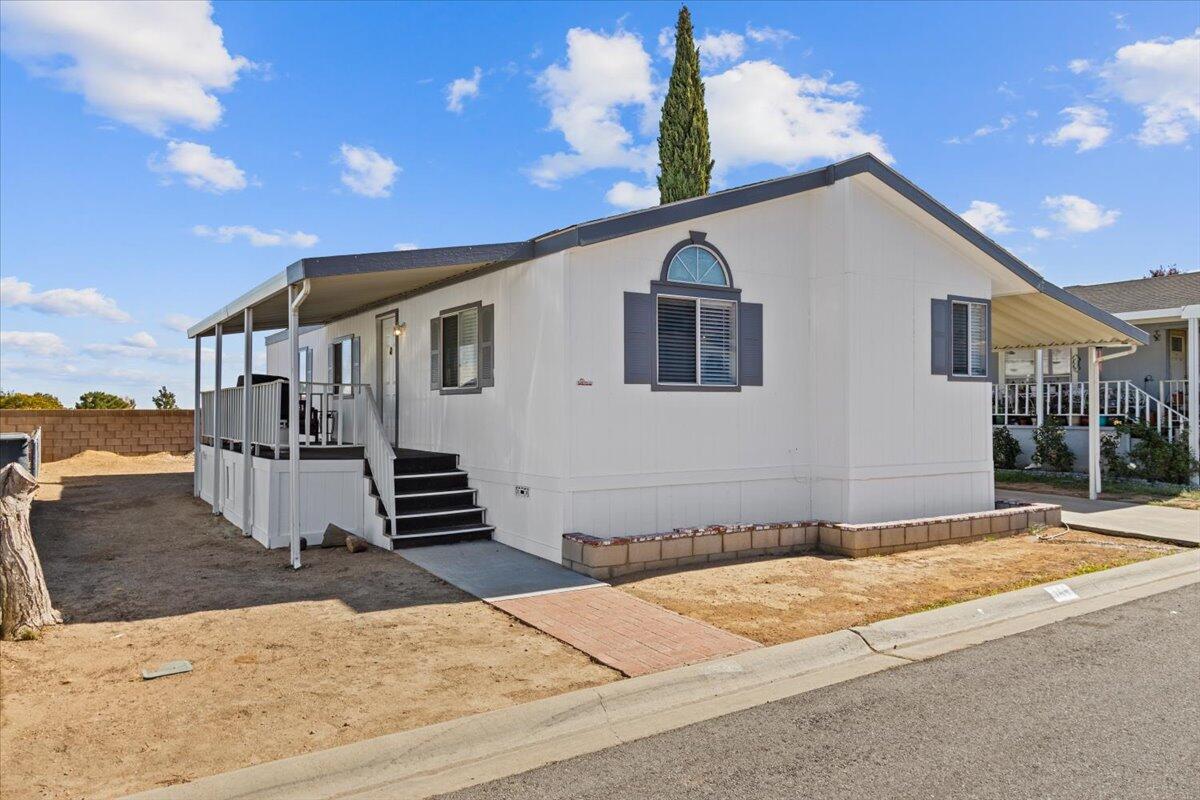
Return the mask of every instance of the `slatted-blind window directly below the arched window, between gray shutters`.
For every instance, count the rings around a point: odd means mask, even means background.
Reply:
[[[736,386],[736,320],[737,307],[731,301],[660,296],[659,383]]]

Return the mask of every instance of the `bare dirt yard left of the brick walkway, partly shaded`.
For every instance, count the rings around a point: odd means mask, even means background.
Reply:
[[[54,606],[0,645],[0,796],[112,798],[616,680],[371,549],[292,572],[192,498],[191,457],[43,465]],[[190,674],[139,670],[187,658]]]

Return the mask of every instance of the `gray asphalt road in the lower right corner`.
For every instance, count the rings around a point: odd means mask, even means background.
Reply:
[[[445,798],[1198,798],[1200,584]]]

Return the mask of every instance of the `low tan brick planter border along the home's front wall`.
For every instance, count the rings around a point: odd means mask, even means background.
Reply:
[[[563,566],[604,581],[650,570],[815,549],[862,558],[1010,536],[1033,525],[1058,525],[1061,515],[1062,507],[1056,505],[1000,500],[995,511],[857,525],[810,521],[679,528],[636,536],[563,534]]]

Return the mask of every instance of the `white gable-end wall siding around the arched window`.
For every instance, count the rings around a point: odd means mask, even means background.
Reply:
[[[932,297],[991,297],[991,281],[901,207],[840,181],[570,251],[569,529],[990,509],[990,387],[930,374],[929,317]],[[648,291],[689,230],[763,303],[763,386],[623,383],[623,293]]]

